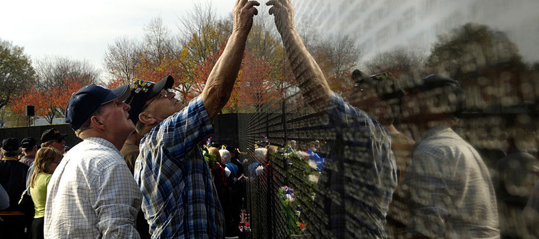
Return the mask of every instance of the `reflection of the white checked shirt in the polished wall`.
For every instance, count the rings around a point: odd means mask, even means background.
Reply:
[[[472,145],[439,126],[414,147],[404,178],[412,212],[408,231],[431,238],[499,238],[490,173]]]

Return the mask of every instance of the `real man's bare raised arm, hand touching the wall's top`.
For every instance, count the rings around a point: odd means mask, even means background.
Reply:
[[[217,115],[227,104],[238,77],[247,36],[253,25],[253,16],[258,14],[258,1],[236,0],[234,5],[234,29],[227,46],[215,64],[202,91],[202,102],[210,118]]]

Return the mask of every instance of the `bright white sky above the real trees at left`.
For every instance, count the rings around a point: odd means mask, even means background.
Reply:
[[[211,3],[221,16],[229,16],[234,0],[2,0],[0,39],[23,46],[33,61],[47,56],[87,60],[103,69],[108,44],[116,38],[142,39],[144,27],[161,16],[177,32],[179,18],[195,4]]]

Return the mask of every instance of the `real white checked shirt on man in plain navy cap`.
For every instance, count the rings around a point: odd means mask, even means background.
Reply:
[[[75,145],[47,187],[45,238],[140,238],[142,195],[123,156],[109,141]]]

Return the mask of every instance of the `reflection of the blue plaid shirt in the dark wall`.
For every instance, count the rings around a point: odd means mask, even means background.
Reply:
[[[397,186],[388,132],[336,94],[325,117],[335,138],[316,191],[314,212],[320,218],[314,220],[320,225],[310,231],[321,238],[386,238],[386,214]]]

